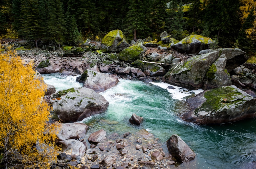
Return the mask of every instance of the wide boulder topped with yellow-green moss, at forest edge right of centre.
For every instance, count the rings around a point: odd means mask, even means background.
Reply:
[[[201,35],[190,35],[178,43],[171,45],[180,53],[197,54],[201,50],[209,48],[209,44],[213,43],[211,38],[203,37]]]

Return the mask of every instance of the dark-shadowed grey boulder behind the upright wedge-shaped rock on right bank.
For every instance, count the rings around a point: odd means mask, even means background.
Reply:
[[[238,48],[219,48],[215,51],[218,51],[220,55],[224,54],[226,56],[226,69],[228,70],[228,72],[242,65],[249,58],[249,56],[247,56],[244,51]]]

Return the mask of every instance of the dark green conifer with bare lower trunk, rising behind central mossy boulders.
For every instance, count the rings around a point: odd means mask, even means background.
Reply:
[[[148,6],[146,0],[130,0],[129,11],[126,15],[126,29],[128,33],[133,33],[133,40],[137,41],[137,33],[149,30]]]

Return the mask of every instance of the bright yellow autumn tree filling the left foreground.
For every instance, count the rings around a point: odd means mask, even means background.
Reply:
[[[15,51],[0,49],[0,160],[5,169],[50,168],[56,160],[52,140],[57,130],[43,134],[49,105],[42,99],[46,85],[35,73],[33,64],[24,66]]]

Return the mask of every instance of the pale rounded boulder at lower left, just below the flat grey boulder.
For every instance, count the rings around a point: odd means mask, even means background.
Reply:
[[[70,154],[72,159],[76,159],[78,155],[80,155],[81,157],[84,156],[85,146],[81,141],[78,141],[75,139],[69,139],[69,140],[59,141],[57,142],[57,145],[61,145],[63,153],[67,150],[72,150]]]

